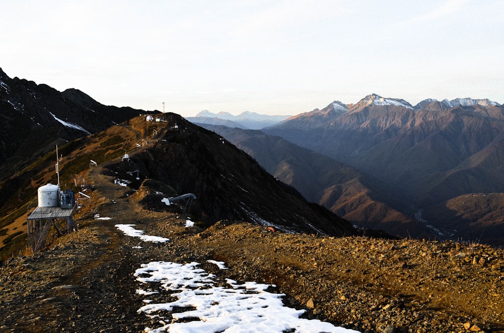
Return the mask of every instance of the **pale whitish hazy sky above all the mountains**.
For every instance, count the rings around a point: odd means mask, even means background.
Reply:
[[[0,67],[106,105],[290,114],[504,103],[502,0],[0,0]]]

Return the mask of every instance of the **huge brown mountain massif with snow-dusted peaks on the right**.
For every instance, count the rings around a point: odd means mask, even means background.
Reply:
[[[370,95],[333,119],[314,110],[263,131],[350,165],[388,184],[404,205],[425,208],[463,194],[504,192],[503,130],[503,109],[488,100],[412,107]]]

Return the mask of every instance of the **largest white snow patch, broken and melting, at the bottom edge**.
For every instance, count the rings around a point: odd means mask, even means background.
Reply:
[[[221,262],[213,262],[219,268],[225,268]],[[238,284],[226,279],[227,285],[214,286],[213,274],[197,268],[198,263],[176,264],[171,262],[151,262],[142,264],[135,271],[137,280],[142,283],[159,282],[178,300],[169,303],[153,303],[142,306],[137,312],[146,315],[157,311],[171,311],[177,308],[196,308],[184,312],[172,313],[174,322],[158,328],[146,327],[146,332],[233,332],[233,333],[282,333],[294,330],[296,333],[333,332],[351,333],[352,329],[337,327],[320,320],[299,318],[304,310],[285,307],[282,303],[284,294],[268,292],[270,285],[255,282]],[[141,291],[138,291],[141,293]],[[158,314],[154,316],[159,316]],[[165,319],[160,317],[160,319]],[[179,319],[193,319],[188,322],[176,322]]]

